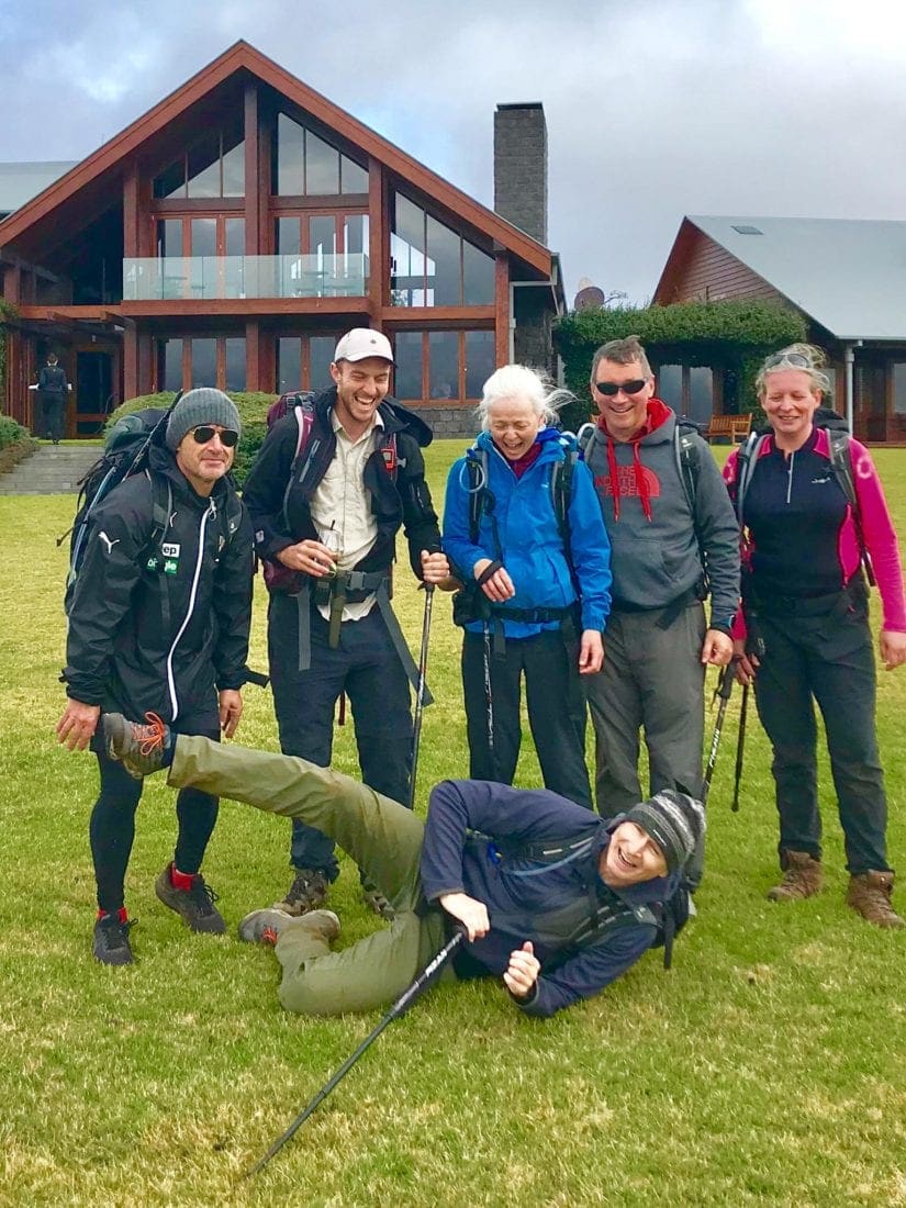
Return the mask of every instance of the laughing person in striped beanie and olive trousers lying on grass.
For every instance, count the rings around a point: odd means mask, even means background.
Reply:
[[[283,1006],[306,1015],[393,1003],[461,924],[469,942],[445,978],[501,976],[528,1015],[597,994],[658,936],[704,829],[699,802],[664,790],[606,821],[546,789],[443,780],[428,820],[350,777],[288,755],[221,747],[105,714],[111,759],[133,776],[192,785],[330,835],[391,902],[389,928],[341,952],[326,910],[257,910],[239,936],[273,945]]]

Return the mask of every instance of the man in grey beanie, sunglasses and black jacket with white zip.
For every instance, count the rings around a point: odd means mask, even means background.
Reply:
[[[179,733],[232,737],[251,622],[251,525],[226,477],[239,413],[220,390],[190,390],[176,403],[165,443],[149,469],[126,478],[97,507],[69,616],[69,697],[57,725],[70,750],[89,743],[100,769],[91,818],[98,883],[94,956],[129,964],[126,869],[140,782],[93,741],[101,713],[158,715]],[[165,501],[158,503],[161,498]],[[155,515],[168,516],[158,527]],[[222,933],[215,895],[199,869],[217,798],[186,789],[176,798],[179,836],[157,896],[193,931]]]

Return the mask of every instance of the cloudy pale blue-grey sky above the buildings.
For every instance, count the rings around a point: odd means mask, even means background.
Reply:
[[[0,161],[77,159],[239,37],[488,205],[541,100],[548,243],[652,292],[684,214],[906,219],[899,0],[0,0]]]

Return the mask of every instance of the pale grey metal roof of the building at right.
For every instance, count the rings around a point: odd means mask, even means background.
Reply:
[[[838,339],[906,339],[906,222],[693,214],[689,221]]]

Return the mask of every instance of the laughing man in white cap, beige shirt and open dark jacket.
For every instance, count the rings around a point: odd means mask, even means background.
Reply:
[[[337,344],[335,387],[310,423],[279,419],[261,446],[244,500],[259,554],[271,565],[268,655],[280,747],[327,767],[333,707],[349,697],[362,779],[410,800],[408,680],[414,675],[389,604],[390,568],[405,528],[414,574],[449,575],[424,478],[430,429],[388,396],[393,350],[367,327]],[[294,820],[295,879],[281,908],[320,906],[337,877],[333,841]],[[387,904],[366,887],[368,904]]]

